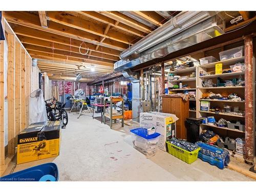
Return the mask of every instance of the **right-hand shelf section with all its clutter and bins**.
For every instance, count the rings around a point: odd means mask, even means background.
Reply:
[[[221,51],[219,56],[220,61],[215,57],[201,58],[201,65],[197,70],[197,117],[204,119],[200,125],[200,133],[203,130],[212,130],[223,137],[243,138],[244,47]],[[223,144],[224,141],[220,146]]]

